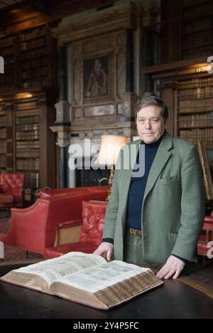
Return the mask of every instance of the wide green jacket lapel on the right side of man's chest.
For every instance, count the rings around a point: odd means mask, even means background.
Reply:
[[[153,189],[153,186],[155,185],[155,182],[157,181],[160,172],[163,170],[163,167],[168,162],[168,159],[170,158],[171,155],[169,149],[171,149],[172,147],[173,147],[173,139],[172,137],[170,137],[168,133],[166,133],[165,137],[163,137],[163,140],[160,143],[158,152],[153,161],[153,165],[151,166],[151,170],[148,175],[148,181],[146,184],[146,190],[143,197],[143,202],[145,201],[151,189]]]

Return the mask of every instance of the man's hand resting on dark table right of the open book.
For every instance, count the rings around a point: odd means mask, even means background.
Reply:
[[[185,268],[185,263],[173,255],[170,255],[170,258],[168,258],[163,268],[159,270],[157,277],[167,280],[173,276],[173,279],[177,279],[183,268]]]

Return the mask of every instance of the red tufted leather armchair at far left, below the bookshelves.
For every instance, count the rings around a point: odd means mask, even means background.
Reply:
[[[0,207],[22,207],[24,174],[0,174]]]

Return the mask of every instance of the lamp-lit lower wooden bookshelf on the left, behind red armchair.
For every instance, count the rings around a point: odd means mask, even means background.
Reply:
[[[9,93],[0,100],[0,170],[26,176],[26,198],[55,188],[55,90]]]

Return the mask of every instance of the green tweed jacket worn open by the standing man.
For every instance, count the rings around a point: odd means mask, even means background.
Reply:
[[[126,206],[140,144],[141,140],[130,142],[121,149],[114,173],[103,238],[114,239],[115,260],[124,258]],[[131,145],[136,147],[132,149]],[[131,166],[127,168],[123,162],[126,156],[128,159],[130,147]],[[197,149],[166,133],[151,166],[143,198],[141,230],[146,263],[160,267],[171,254],[196,262],[203,220],[204,187]]]

